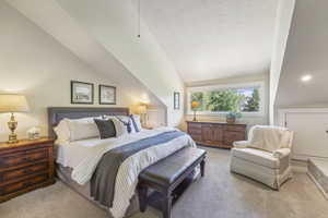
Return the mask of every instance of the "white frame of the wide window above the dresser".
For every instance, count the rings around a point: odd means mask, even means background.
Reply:
[[[220,84],[220,85],[206,85],[206,86],[194,86],[187,87],[187,114],[194,114],[191,110],[191,94],[199,92],[210,92],[210,90],[227,90],[227,89],[243,89],[243,88],[254,88],[257,87],[259,90],[259,111],[257,112],[241,112],[243,116],[255,116],[260,117],[265,114],[265,82],[251,82],[251,83],[237,83],[237,84]],[[200,116],[219,116],[227,114],[229,111],[197,111],[197,114]]]

